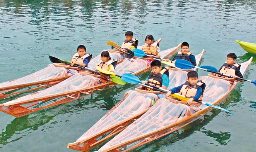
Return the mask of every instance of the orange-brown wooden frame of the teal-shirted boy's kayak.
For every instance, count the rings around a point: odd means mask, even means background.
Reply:
[[[203,51],[201,53],[202,53],[202,56],[200,58],[200,61],[203,58],[204,49],[203,49]],[[186,72],[192,71],[192,69],[186,70],[186,69],[172,68],[172,67],[167,67],[167,68],[169,70],[174,70],[174,71],[186,71]],[[197,69],[195,69],[195,70],[197,70]],[[135,88],[135,91],[140,92],[140,93],[153,93],[153,94],[162,93],[160,91],[146,91],[146,90],[142,90],[141,87]],[[123,97],[123,99],[124,99],[124,97]],[[117,105],[121,104],[123,102],[123,99],[121,101],[119,101]],[[157,100],[156,100],[156,102],[157,102]],[[110,109],[109,112],[114,111],[116,109],[117,105],[114,108]],[[121,121],[121,122],[113,125],[111,128],[108,128],[108,129],[105,129],[103,131],[100,131],[99,133],[95,134],[94,136],[90,136],[90,137],[88,137],[88,138],[86,138],[84,140],[81,140],[80,142],[68,143],[67,148],[73,149],[73,150],[79,150],[79,151],[83,151],[83,152],[88,152],[92,148],[94,148],[94,147],[96,147],[98,145],[101,145],[108,138],[110,138],[110,137],[120,133],[121,131],[123,131],[132,122],[134,122],[139,117],[141,117],[144,113],[146,113],[150,108],[151,107],[149,107],[148,109],[146,109],[146,110],[140,112],[139,114],[131,117],[128,120]],[[105,135],[105,134],[107,134],[107,135],[104,138],[101,138],[100,140],[96,140],[97,138],[99,138],[99,137],[101,137],[102,135]],[[119,151],[118,150],[117,151],[114,150],[114,152],[119,152]]]

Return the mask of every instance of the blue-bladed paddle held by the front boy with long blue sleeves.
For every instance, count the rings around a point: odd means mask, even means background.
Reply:
[[[169,90],[163,89],[161,87],[155,87],[155,86],[149,86],[148,84],[142,84],[142,81],[140,81],[140,79],[137,76],[129,74],[129,73],[124,73],[122,75],[122,80],[124,82],[130,83],[130,84],[141,84],[143,86],[149,87],[149,88],[154,89],[156,91],[161,91],[163,93],[167,93],[169,91]],[[180,94],[175,94],[174,96],[178,97],[178,96],[181,96],[181,95]],[[184,96],[182,96],[182,98],[184,99]],[[187,100],[188,100],[188,98],[187,98]],[[196,101],[196,102],[202,103],[202,104],[204,104],[206,106],[209,106],[209,107],[212,107],[212,108],[217,108],[217,109],[229,112],[230,114],[233,115],[233,113],[230,112],[229,110],[221,108],[221,107],[218,107],[218,106],[215,106],[215,105],[211,105],[210,103],[205,103],[203,101]]]

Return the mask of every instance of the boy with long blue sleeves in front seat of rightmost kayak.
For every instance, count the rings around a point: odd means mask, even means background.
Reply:
[[[196,71],[188,72],[187,76],[187,81],[178,87],[170,89],[168,93],[165,94],[165,98],[169,97],[171,94],[180,93],[181,95],[190,98],[187,101],[187,105],[190,105],[192,101],[202,100],[205,83],[198,80],[198,74]]]

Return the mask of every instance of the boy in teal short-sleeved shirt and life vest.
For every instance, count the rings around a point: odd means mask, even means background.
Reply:
[[[169,86],[169,72],[167,68],[163,68],[161,62],[158,60],[154,60],[150,64],[151,73],[149,74],[146,81],[142,83],[148,83],[149,86],[162,87],[163,89],[167,89]],[[145,87],[145,90],[153,91],[152,89]]]

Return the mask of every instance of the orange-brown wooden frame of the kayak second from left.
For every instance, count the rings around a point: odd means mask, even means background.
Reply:
[[[174,48],[173,51],[166,54],[162,58],[170,58],[171,56],[176,54],[176,52],[178,52],[178,49],[180,49],[180,47],[181,47],[181,44],[179,44],[176,47],[173,47]],[[110,50],[110,52],[111,52],[111,50]],[[148,58],[146,58],[146,59],[148,59]],[[150,65],[147,66],[146,68],[143,68],[142,70],[140,70],[138,72],[133,73],[133,74],[134,75],[139,75],[141,73],[144,73],[144,72],[148,71],[149,68],[150,68]],[[105,89],[105,87],[113,86],[113,84],[115,84],[115,83],[110,81],[110,82],[98,84],[96,86],[85,87],[85,88],[78,89],[78,90],[75,90],[75,91],[67,91],[65,93],[59,93],[59,94],[55,94],[55,95],[48,95],[48,96],[44,96],[44,97],[34,98],[32,100],[25,100],[25,101],[22,101],[20,103],[17,102],[17,104],[15,104],[15,105],[7,105],[7,104],[3,103],[3,104],[0,104],[0,111],[5,112],[5,113],[7,113],[9,115],[12,115],[14,117],[21,117],[21,116],[24,116],[24,115],[28,115],[28,114],[37,112],[37,111],[42,110],[44,108],[49,108],[49,107],[52,107],[52,106],[68,103],[68,102],[83,98],[86,95],[93,94],[93,91],[96,91],[96,90],[102,91],[102,90]],[[80,96],[81,94],[83,94],[83,95]],[[55,98],[64,97],[64,96],[66,96],[66,98],[60,99],[58,101],[54,101],[53,103],[48,103],[47,105],[44,105],[42,107],[28,109],[30,107],[39,105],[41,102],[44,103],[46,101],[49,101],[49,100],[52,100],[52,99],[55,99]],[[25,107],[21,106],[21,105],[26,105],[28,103],[33,103],[33,104],[25,106]]]

